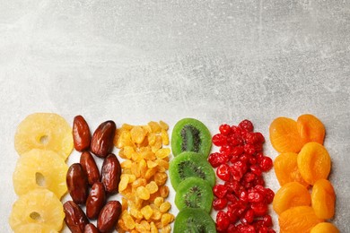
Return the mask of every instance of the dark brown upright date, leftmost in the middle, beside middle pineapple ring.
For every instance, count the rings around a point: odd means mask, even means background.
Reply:
[[[74,203],[86,203],[89,183],[80,163],[74,163],[68,168],[66,173],[66,186]]]

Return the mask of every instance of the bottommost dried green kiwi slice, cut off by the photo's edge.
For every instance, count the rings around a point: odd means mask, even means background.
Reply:
[[[179,211],[174,223],[174,233],[215,233],[215,223],[202,209],[185,208]]]

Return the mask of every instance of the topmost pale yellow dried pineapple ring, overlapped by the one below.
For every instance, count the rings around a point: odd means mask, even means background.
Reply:
[[[18,125],[14,148],[20,155],[31,149],[56,151],[66,160],[73,150],[72,128],[57,114],[31,114]]]

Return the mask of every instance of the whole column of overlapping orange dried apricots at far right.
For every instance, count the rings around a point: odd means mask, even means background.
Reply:
[[[334,217],[336,194],[327,179],[331,160],[323,146],[322,122],[308,114],[297,121],[278,117],[269,131],[273,147],[281,153],[275,172],[282,187],[273,201],[281,232],[339,232],[325,222]]]

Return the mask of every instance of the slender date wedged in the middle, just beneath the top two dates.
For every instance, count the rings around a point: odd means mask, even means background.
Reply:
[[[83,167],[89,185],[92,186],[95,182],[100,181],[100,171],[97,168],[95,160],[93,160],[92,154],[89,151],[83,151],[80,156],[80,164]]]

